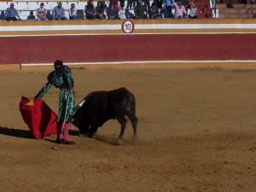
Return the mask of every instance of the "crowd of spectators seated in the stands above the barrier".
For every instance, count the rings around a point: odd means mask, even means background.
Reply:
[[[95,6],[93,0],[88,0],[85,5],[85,11],[82,11],[82,13],[78,13],[75,4],[72,3],[71,7],[68,9],[68,18],[65,15],[65,9],[62,7],[61,2],[59,2],[52,10],[52,15],[49,14],[49,11],[46,11],[44,3],[41,3],[40,7],[37,9],[37,20],[78,20],[84,19],[84,14],[87,20],[104,20],[106,18],[108,20],[119,20],[118,2],[118,0],[110,0],[109,6],[105,12],[105,6],[101,1],[98,1]],[[120,1],[120,8],[124,8],[124,2]],[[134,14],[129,11],[131,6],[134,8]],[[172,14],[172,9],[175,9],[174,15]],[[188,9],[190,9],[189,15],[187,14]],[[195,3],[189,4],[189,0],[154,0],[154,3],[152,3],[151,6],[149,5],[149,0],[144,0],[143,2],[138,0],[128,0],[124,17],[127,19],[183,19],[186,17],[189,17],[189,19],[197,19],[196,10]],[[105,15],[105,13],[107,15]],[[3,20],[17,20],[17,17],[21,20],[18,11],[15,9],[15,4],[10,3],[10,7],[5,11]],[[35,19],[32,12],[27,19]]]

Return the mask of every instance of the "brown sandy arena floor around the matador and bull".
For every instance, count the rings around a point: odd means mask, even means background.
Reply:
[[[137,99],[138,140],[110,120],[75,146],[36,140],[20,115],[49,70],[0,71],[0,191],[256,191],[256,69],[73,69],[76,104],[126,87]],[[58,111],[59,90],[44,96]]]

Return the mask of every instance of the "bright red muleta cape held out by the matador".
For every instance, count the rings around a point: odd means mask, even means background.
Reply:
[[[28,104],[28,102],[32,102],[32,104]],[[20,113],[33,137],[42,139],[44,136],[57,133],[56,119],[58,115],[42,99],[31,101],[31,99],[22,96]]]

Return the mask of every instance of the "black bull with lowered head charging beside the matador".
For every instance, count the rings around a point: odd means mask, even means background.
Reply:
[[[98,127],[109,119],[118,119],[121,125],[119,140],[123,140],[127,116],[131,120],[133,137],[137,138],[136,102],[133,94],[126,88],[110,91],[95,91],[84,105],[73,115],[73,125],[84,136],[92,137]]]

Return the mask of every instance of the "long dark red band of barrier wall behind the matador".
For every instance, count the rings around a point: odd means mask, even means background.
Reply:
[[[256,34],[84,35],[0,38],[0,63],[255,60]]]

